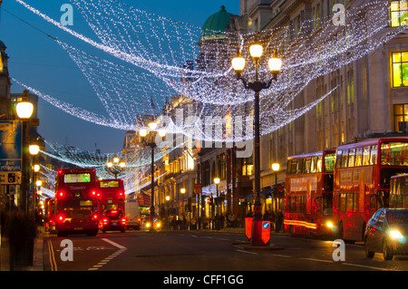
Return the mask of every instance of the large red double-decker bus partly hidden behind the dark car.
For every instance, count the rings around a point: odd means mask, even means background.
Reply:
[[[392,176],[408,173],[408,139],[384,138],[336,149],[334,230],[348,241],[363,241],[377,209],[389,206]]]

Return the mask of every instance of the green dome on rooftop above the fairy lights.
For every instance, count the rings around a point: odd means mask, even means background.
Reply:
[[[225,32],[225,28],[229,25],[229,19],[233,14],[230,14],[222,5],[219,12],[209,16],[201,29],[201,38],[205,39],[217,39],[219,34]],[[224,37],[221,37],[224,38]]]

